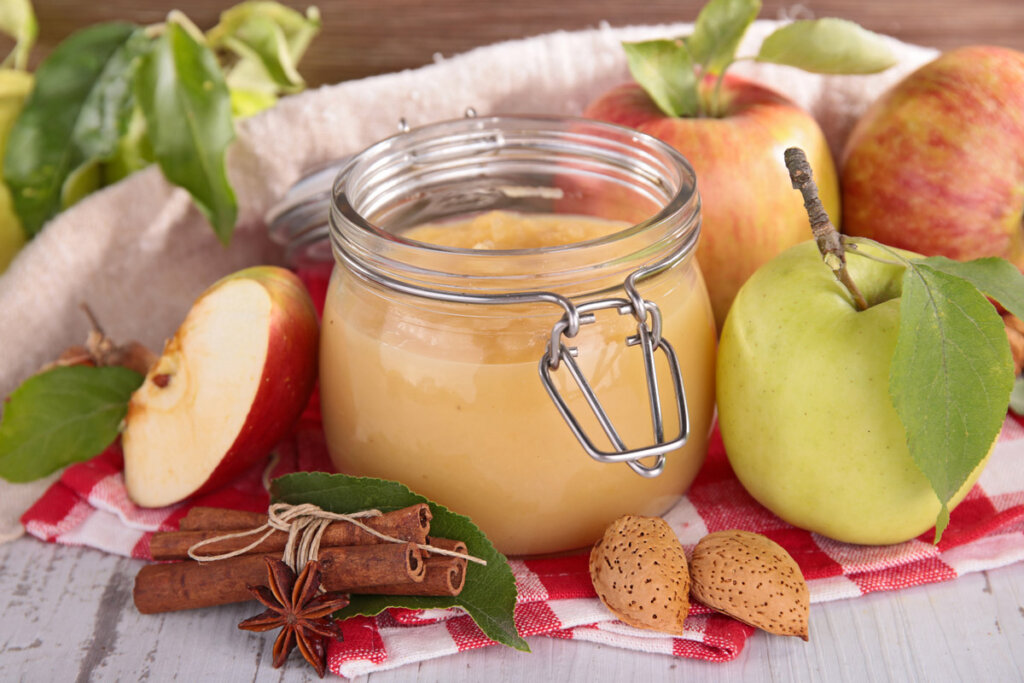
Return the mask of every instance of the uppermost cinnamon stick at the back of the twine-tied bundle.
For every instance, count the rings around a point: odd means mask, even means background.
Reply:
[[[370,528],[395,539],[422,544],[430,530],[430,508],[425,504],[413,505],[401,510],[386,512],[379,517],[360,519]],[[242,510],[221,510],[218,508],[193,508],[181,519],[180,531],[159,531],[150,541],[150,553],[155,560],[188,559],[188,549],[201,541],[215,539],[231,531],[257,528],[266,523],[266,515]],[[214,556],[245,548],[257,540],[261,533],[226,539],[210,543],[198,549],[200,555]],[[256,547],[246,551],[246,555],[281,553],[288,542],[288,535],[274,530]],[[372,533],[346,521],[332,523],[324,530],[321,546],[364,546],[387,543]]]

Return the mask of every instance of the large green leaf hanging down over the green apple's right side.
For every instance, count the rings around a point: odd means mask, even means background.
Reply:
[[[910,456],[942,503],[936,542],[949,500],[999,433],[1013,381],[1010,344],[994,306],[971,283],[909,262],[889,392]]]

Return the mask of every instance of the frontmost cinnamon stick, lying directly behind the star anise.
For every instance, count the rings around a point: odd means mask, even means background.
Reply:
[[[267,581],[263,557],[148,564],[135,577],[135,606],[143,614],[155,614],[251,600],[246,586],[262,586]],[[423,581],[426,568],[422,551],[411,543],[321,548],[318,559],[329,591],[413,585]]]

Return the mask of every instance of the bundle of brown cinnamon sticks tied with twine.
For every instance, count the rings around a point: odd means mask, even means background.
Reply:
[[[403,543],[379,539],[347,521],[335,521],[324,531],[318,559],[328,591],[377,595],[459,595],[466,582],[466,560],[433,554],[419,545],[466,553],[461,541],[429,536],[430,508],[414,505],[360,520],[367,526]],[[135,578],[135,606],[143,614],[210,607],[252,599],[247,585],[266,583],[264,556],[281,557],[288,541],[274,530],[255,548],[237,557],[199,562],[188,550],[201,541],[262,526],[258,512],[193,508],[178,531],[155,533],[150,550],[155,560]],[[259,535],[225,539],[197,550],[204,556],[225,554],[250,545]]]

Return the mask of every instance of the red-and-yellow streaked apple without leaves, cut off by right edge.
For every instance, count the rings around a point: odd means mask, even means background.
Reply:
[[[1024,53],[952,50],[876,100],[843,153],[843,206],[849,234],[1024,270]]]

